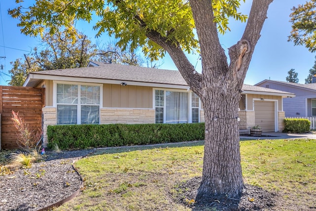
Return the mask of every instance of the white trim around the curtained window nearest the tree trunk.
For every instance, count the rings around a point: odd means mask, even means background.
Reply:
[[[166,112],[165,112],[165,103],[166,103],[166,91],[174,91],[174,92],[187,92],[188,98],[189,98],[189,106],[188,106],[188,123],[192,123],[192,91],[191,90],[185,90],[185,89],[170,89],[170,88],[159,88],[154,87],[153,88],[153,109],[156,111],[156,90],[163,90],[163,124],[166,122]],[[200,111],[201,111],[201,100],[198,98],[198,122],[200,123]],[[155,117],[156,122],[156,117]]]

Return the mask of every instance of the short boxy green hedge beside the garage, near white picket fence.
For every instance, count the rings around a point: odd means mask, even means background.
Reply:
[[[310,131],[311,121],[307,119],[284,119],[283,132],[304,133]]]

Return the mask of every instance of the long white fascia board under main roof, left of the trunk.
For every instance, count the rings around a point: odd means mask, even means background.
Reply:
[[[30,74],[31,76],[31,74]],[[150,82],[133,82],[124,80],[109,80],[109,79],[90,79],[90,78],[80,78],[80,77],[67,77],[67,76],[51,76],[42,74],[32,74],[32,79],[40,80],[53,80],[53,81],[67,81],[67,82],[85,82],[94,84],[121,84],[122,82],[127,85],[138,85],[138,86],[151,86],[151,87],[161,87],[161,88],[179,88],[179,89],[190,89],[189,85],[177,85],[177,84],[159,84]],[[30,80],[28,80],[30,83]],[[27,83],[26,83],[27,84]]]

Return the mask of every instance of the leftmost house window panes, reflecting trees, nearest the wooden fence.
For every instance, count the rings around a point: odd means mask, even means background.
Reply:
[[[99,124],[100,86],[57,84],[57,124]]]

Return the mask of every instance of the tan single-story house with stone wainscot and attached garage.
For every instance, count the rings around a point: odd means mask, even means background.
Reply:
[[[24,86],[45,87],[48,125],[204,122],[199,98],[178,71],[89,62],[88,67],[29,74]],[[292,93],[244,85],[240,129],[283,129],[282,98]]]

